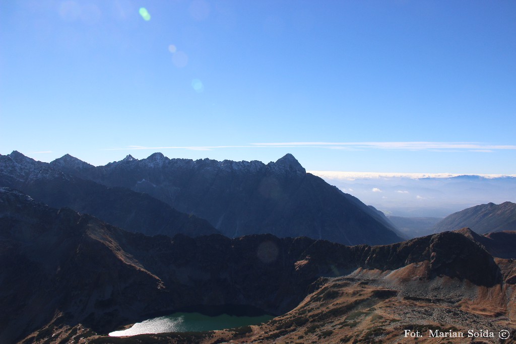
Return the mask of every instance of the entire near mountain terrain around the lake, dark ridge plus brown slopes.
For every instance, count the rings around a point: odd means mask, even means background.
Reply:
[[[4,187],[0,341],[394,343],[404,326],[463,330],[472,321],[499,331],[516,319],[516,265],[464,231],[374,247],[270,234],[150,237]],[[104,336],[152,315],[231,304],[278,317],[234,331]]]

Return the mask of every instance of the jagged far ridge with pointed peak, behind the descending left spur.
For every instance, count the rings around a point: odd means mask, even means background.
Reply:
[[[108,187],[146,192],[206,219],[228,237],[271,233],[351,245],[402,240],[385,217],[306,173],[291,154],[267,165],[169,159],[161,153],[142,160],[127,156],[99,167],[66,155],[50,165]]]

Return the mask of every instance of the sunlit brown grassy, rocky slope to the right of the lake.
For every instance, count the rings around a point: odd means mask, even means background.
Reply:
[[[496,259],[504,275],[516,261]],[[516,287],[492,287],[447,276],[420,280],[428,262],[394,271],[358,269],[344,277],[321,279],[321,286],[295,309],[265,324],[201,333],[92,336],[85,343],[498,343],[507,329],[515,343]],[[405,330],[422,337],[405,337]],[[464,338],[433,338],[429,330],[463,333]],[[494,338],[471,337],[468,331],[493,332]]]

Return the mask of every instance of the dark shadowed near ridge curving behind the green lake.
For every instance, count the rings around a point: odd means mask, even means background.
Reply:
[[[501,270],[499,260],[460,233],[376,247],[272,235],[148,237],[7,188],[0,188],[0,248],[0,342],[96,338],[195,305],[240,304],[280,315],[328,277],[362,278],[367,271],[412,279],[416,269],[416,285],[516,282],[508,263]]]

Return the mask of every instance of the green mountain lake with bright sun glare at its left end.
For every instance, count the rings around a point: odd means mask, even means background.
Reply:
[[[208,316],[195,312],[178,312],[169,316],[137,322],[130,329],[111,332],[109,335],[120,337],[145,333],[214,331],[255,325],[267,322],[272,318],[273,316],[270,315],[249,317],[221,314]]]

